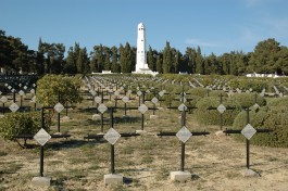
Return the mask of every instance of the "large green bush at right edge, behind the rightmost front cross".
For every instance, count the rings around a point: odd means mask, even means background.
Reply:
[[[250,112],[250,124],[254,128],[268,128],[273,132],[255,133],[250,140],[252,144],[264,147],[288,147],[288,98],[273,99],[265,107]],[[242,129],[247,114],[241,112],[234,122],[234,129]],[[245,140],[243,136],[236,136]]]

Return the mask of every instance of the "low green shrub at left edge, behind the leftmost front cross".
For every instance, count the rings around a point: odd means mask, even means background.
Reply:
[[[41,117],[39,112],[9,113],[0,119],[0,136],[13,140],[18,135],[35,135],[40,129]],[[45,127],[48,130],[48,126]]]

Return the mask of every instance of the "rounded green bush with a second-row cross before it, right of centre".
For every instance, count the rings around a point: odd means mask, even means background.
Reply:
[[[226,107],[235,107],[234,110],[226,110],[223,116],[223,125],[233,125],[234,118],[240,112],[240,106],[236,102],[231,102],[228,98],[223,99],[223,104]],[[220,105],[220,98],[205,97],[199,100],[196,104],[196,118],[202,125],[220,125],[220,112],[217,110],[209,110],[210,107],[217,107]]]

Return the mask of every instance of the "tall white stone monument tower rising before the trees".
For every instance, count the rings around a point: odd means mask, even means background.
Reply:
[[[143,23],[138,24],[137,28],[137,54],[136,54],[136,74],[151,74],[156,75],[158,73],[152,72],[147,64],[147,52],[146,52],[146,27]]]

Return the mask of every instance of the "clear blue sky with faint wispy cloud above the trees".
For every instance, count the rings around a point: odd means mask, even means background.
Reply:
[[[137,25],[147,27],[147,44],[165,42],[185,52],[251,52],[275,38],[288,46],[288,0],[0,0],[0,29],[29,49],[42,41],[92,47],[136,47]],[[148,48],[147,46],[147,48]]]

